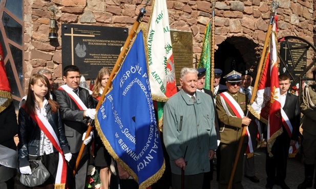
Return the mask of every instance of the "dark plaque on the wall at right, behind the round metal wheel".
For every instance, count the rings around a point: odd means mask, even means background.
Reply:
[[[299,77],[306,69],[306,43],[282,41],[280,44],[280,56],[294,77]],[[292,59],[291,59],[292,57]],[[293,61],[292,61],[293,60]],[[280,63],[279,72],[287,74],[286,67]]]

